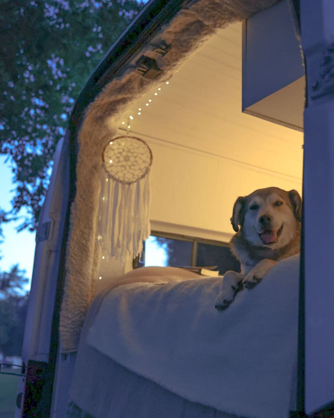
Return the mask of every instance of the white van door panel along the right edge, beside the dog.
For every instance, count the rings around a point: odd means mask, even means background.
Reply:
[[[302,0],[300,8],[307,106],[298,410],[304,404],[320,417],[334,414],[334,2]]]

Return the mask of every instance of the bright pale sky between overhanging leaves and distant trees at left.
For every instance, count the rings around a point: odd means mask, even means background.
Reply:
[[[12,172],[9,161],[5,163],[7,156],[0,155],[1,194],[0,207],[10,209],[10,201],[13,199],[15,186],[12,184]],[[20,214],[24,214],[23,210]],[[11,266],[18,264],[21,270],[26,271],[26,277],[31,279],[33,272],[33,257],[35,253],[35,233],[29,231],[16,232],[16,227],[21,223],[9,222],[3,224],[3,242],[0,244],[0,270],[8,271]]]

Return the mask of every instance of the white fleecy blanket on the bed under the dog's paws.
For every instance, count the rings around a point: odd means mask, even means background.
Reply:
[[[191,401],[247,417],[288,417],[298,273],[298,256],[281,261],[225,311],[214,308],[222,278],[120,285],[102,302],[87,344]]]

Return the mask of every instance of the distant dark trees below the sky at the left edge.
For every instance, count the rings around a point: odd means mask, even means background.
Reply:
[[[23,343],[28,293],[24,284],[28,279],[15,265],[10,272],[0,272],[0,353],[20,356]]]

